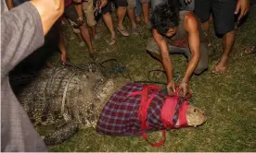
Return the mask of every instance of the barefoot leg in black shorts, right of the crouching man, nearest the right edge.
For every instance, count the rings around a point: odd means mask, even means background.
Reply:
[[[214,67],[214,73],[224,73],[227,68],[228,55],[231,52],[235,42],[235,9],[235,0],[226,0],[224,2],[214,0],[214,3],[212,3],[215,31],[218,34],[224,35],[224,53],[219,63]]]

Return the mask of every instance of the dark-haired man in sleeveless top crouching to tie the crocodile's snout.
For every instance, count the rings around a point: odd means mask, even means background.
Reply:
[[[167,90],[175,90],[173,65],[169,53],[185,54],[189,60],[179,89],[186,95],[189,78],[201,74],[208,67],[208,41],[198,18],[191,11],[179,11],[173,4],[156,6],[151,18],[153,38],[147,52],[162,63],[167,75]]]

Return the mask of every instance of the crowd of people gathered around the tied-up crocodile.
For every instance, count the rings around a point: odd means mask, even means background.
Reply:
[[[236,22],[250,10],[250,0],[65,0],[65,3],[63,0],[26,1],[28,0],[1,1],[2,151],[46,151],[44,142],[36,134],[9,86],[8,72],[43,45],[44,36],[52,26],[61,29],[63,18],[69,21],[73,31],[85,42],[91,57],[96,55],[92,41],[98,39],[98,14],[102,15],[109,29],[109,45],[117,43],[116,30],[123,37],[128,37],[131,33],[139,34],[138,24],[143,20],[147,28],[152,29],[152,38],[148,38],[146,50],[163,65],[169,94],[176,89],[170,53],[186,55],[186,73],[178,85],[182,96],[185,96],[190,77],[193,74],[199,75],[208,68],[209,51],[212,47],[209,23],[213,21],[215,32],[223,36],[223,54],[212,72],[224,73],[229,53],[235,43]],[[117,11],[117,26],[114,26],[112,20],[113,6]],[[126,15],[132,31],[128,31],[123,25]],[[65,64],[67,49],[63,31],[59,30],[58,38],[61,60]]]

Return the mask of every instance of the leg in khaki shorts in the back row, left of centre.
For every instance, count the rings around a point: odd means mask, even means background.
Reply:
[[[87,24],[90,27],[91,38],[96,39],[96,19],[94,15],[94,1],[88,0],[83,2],[83,12],[87,20]]]

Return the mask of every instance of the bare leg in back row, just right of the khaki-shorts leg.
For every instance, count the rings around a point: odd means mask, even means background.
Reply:
[[[115,39],[116,39],[116,32],[114,30],[113,21],[112,21],[111,15],[110,15],[110,11],[111,11],[111,3],[108,2],[107,6],[102,8],[102,14],[103,14],[103,20],[111,33],[111,40],[109,41],[109,44],[113,45],[115,43]]]

